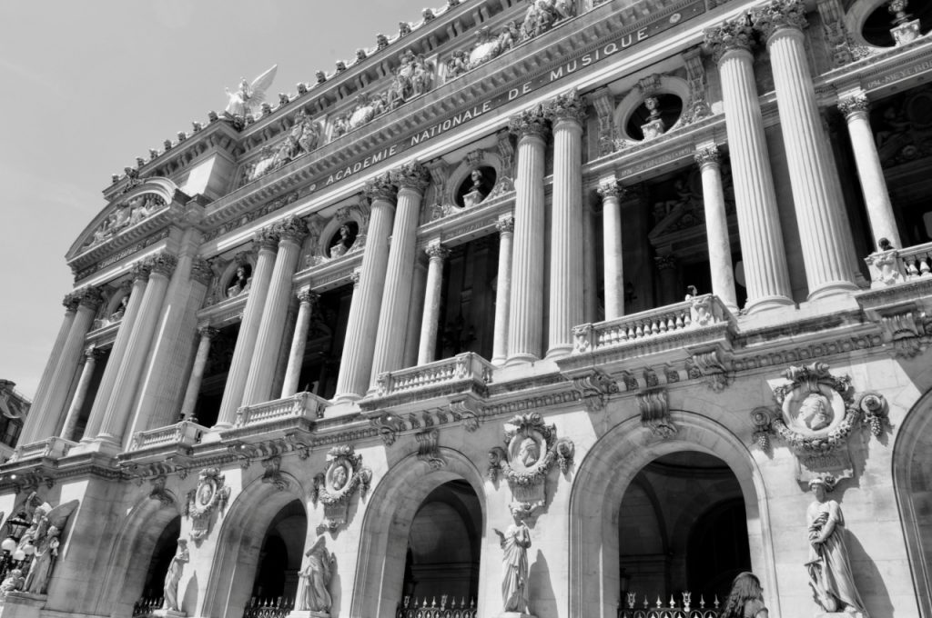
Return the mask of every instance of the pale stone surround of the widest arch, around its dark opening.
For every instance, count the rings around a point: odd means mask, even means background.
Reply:
[[[615,615],[620,589],[617,527],[624,491],[646,464],[680,450],[714,455],[737,477],[748,541],[756,550],[751,563],[772,591],[771,606],[779,615],[770,513],[758,465],[745,444],[720,423],[691,411],[670,416],[678,426],[673,439],[652,437],[634,417],[599,438],[580,463],[569,497],[569,615]]]

